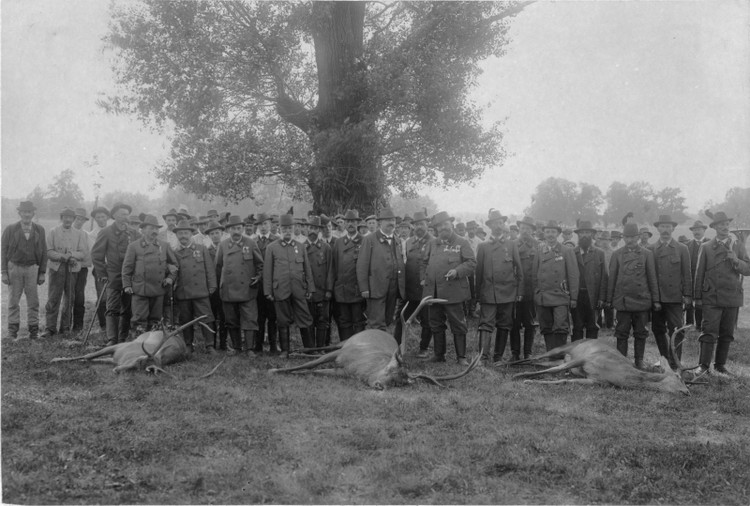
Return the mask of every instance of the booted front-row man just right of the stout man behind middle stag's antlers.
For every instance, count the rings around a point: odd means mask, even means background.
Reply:
[[[477,249],[477,296],[479,298],[479,347],[482,363],[489,360],[492,332],[497,328],[493,363],[499,363],[505,352],[508,334],[513,327],[513,310],[523,299],[523,266],[518,245],[508,237],[507,218],[500,211],[490,211],[486,225],[492,230],[489,241]],[[511,350],[519,360],[519,349]]]

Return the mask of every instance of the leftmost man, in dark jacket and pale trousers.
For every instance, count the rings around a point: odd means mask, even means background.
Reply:
[[[39,334],[39,293],[37,285],[44,284],[47,266],[47,237],[44,227],[34,223],[33,202],[21,202],[16,208],[21,221],[8,225],[2,238],[2,280],[10,287],[8,298],[8,337],[18,337],[21,327],[21,296],[26,294],[27,325],[29,338]]]

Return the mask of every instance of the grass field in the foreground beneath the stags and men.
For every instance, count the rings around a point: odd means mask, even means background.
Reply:
[[[40,295],[43,307],[46,286]],[[505,368],[447,390],[378,392],[271,375],[298,363],[278,357],[230,357],[197,380],[222,357],[196,356],[170,367],[173,380],[50,364],[82,351],[57,338],[4,339],[2,500],[748,504],[749,313],[728,364],[740,376],[712,377],[689,397],[513,382]],[[683,361],[694,365],[691,337]],[[614,345],[610,332],[603,339]],[[646,361],[656,359],[649,339]]]

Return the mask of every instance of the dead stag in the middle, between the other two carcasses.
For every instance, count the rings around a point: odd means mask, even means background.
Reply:
[[[425,297],[419,303],[412,316],[404,321],[404,311],[401,311],[401,321],[404,324],[404,336],[406,339],[407,329],[413,318],[426,304],[444,302],[441,299]],[[404,307],[404,309],[406,309]],[[404,386],[417,379],[429,381],[438,386],[444,386],[441,381],[458,379],[468,374],[477,363],[481,355],[477,355],[471,364],[462,372],[450,376],[433,377],[427,374],[411,374],[406,370],[401,348],[392,335],[382,330],[368,329],[358,332],[346,341],[323,348],[334,350],[323,355],[317,360],[296,367],[284,369],[271,369],[272,373],[313,372],[317,374],[347,375],[353,376],[367,383],[372,388],[386,389],[390,387]],[[311,371],[311,369],[333,362],[336,369],[323,369]]]

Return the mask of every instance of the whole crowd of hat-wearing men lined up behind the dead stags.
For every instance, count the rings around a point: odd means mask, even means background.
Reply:
[[[37,337],[36,287],[45,280],[43,335],[80,331],[92,269],[97,296],[105,301],[97,317],[107,344],[132,339],[163,319],[181,324],[196,316],[205,316],[195,327],[202,339],[194,339],[192,327],[183,335],[191,348],[208,353],[259,353],[268,342],[271,353],[279,353],[278,343],[288,355],[292,325],[305,348],[323,347],[332,321],[343,341],[365,328],[386,330],[395,319],[400,343],[405,329],[396,316],[405,308],[408,318],[431,296],[440,303],[418,315],[420,358],[445,361],[450,327],[456,359],[466,364],[467,316],[478,303],[483,363],[490,362],[491,349],[491,362],[501,362],[509,339],[511,360],[528,357],[537,327],[548,350],[560,346],[572,319],[572,340],[596,339],[601,326],[614,325],[617,349],[626,356],[632,329],[639,368],[650,321],[660,353],[676,366],[683,337],[675,335],[673,354],[667,336],[687,317],[702,330],[701,372],[714,359],[715,371],[728,373],[744,302],[742,277],[750,275],[744,240],[730,235],[732,220],[723,212],[708,226],[696,221],[694,239],[683,244],[673,239],[677,223],[666,215],[654,223],[659,237],[650,243],[651,232],[635,223],[611,233],[589,221],[574,229],[530,217],[508,224],[495,209],[485,222],[486,239],[476,222],[454,226],[444,211],[401,218],[385,208],[364,220],[356,210],[332,219],[261,213],[243,220],[216,210],[192,217],[171,209],[162,225],[116,203],[94,209],[90,232],[83,228],[89,219],[83,209],[64,209],[60,225],[48,233],[32,221],[32,203],[18,211],[21,221],[6,227],[2,238],[12,338],[18,338],[24,293],[29,337]],[[712,240],[704,237],[708,227],[716,231]]]

